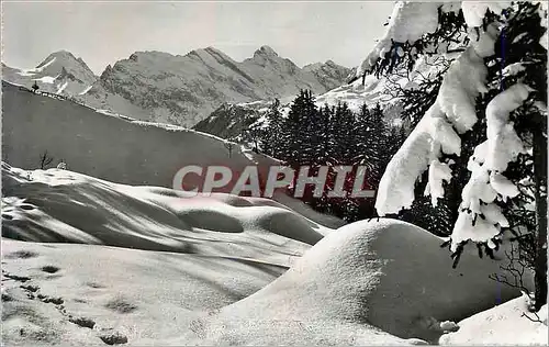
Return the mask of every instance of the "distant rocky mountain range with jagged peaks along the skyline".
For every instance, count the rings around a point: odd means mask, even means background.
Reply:
[[[262,46],[235,61],[208,47],[184,56],[136,52],[108,66],[100,77],[69,52],[49,55],[34,69],[2,64],[2,78],[72,97],[90,107],[135,119],[191,127],[224,103],[272,100],[300,89],[324,93],[344,85],[352,70],[332,60],[303,68]]]

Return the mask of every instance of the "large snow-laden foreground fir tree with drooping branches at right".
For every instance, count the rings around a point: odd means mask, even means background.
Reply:
[[[442,37],[441,42],[448,44],[442,46],[440,41],[434,44],[441,49],[434,54],[455,54],[455,46],[462,43],[467,43],[467,47],[450,64],[434,103],[389,163],[376,208],[380,215],[410,209],[421,178],[424,178],[425,194],[436,206],[445,199],[448,186],[456,182],[456,172],[467,169],[467,175],[459,175],[461,180],[467,179],[461,189],[450,249],[458,260],[463,246],[472,240],[492,255],[504,231],[524,227],[512,225],[509,220],[517,210],[528,208],[516,199],[527,195],[520,188],[525,181],[531,181],[528,187],[534,195],[536,230],[529,232],[536,234],[537,239],[534,261],[536,305],[540,307],[547,296],[545,11],[539,4],[527,2],[508,7],[480,2],[463,2],[461,7],[459,3],[402,3],[393,13],[388,35],[365,61],[362,70],[380,64],[378,57],[389,71],[403,57],[407,63],[416,59],[412,54],[406,60],[406,54],[413,52],[413,47],[426,47],[425,42],[433,40],[445,12],[459,13],[447,18],[463,18],[467,37],[452,40],[460,33],[458,25],[456,32]],[[433,53],[432,47],[423,53],[416,49],[414,54]],[[386,52],[393,49],[396,56],[388,56]],[[494,64],[501,68],[500,81],[495,85],[491,80]],[[533,159],[530,164],[528,156]],[[461,182],[458,180],[457,189]]]

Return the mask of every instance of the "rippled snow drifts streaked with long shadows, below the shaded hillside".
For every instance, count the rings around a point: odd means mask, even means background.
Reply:
[[[191,197],[2,163],[2,235],[289,264],[327,228],[260,198]]]

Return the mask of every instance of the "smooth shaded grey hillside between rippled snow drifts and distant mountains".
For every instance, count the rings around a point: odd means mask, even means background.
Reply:
[[[235,146],[229,154],[219,137],[166,124],[145,123],[97,112],[65,100],[37,96],[2,82],[2,158],[25,169],[40,168],[41,155],[65,160],[68,169],[117,183],[171,188],[187,165],[221,165],[235,172],[231,191],[248,165],[260,175],[278,161]],[[192,178],[192,176],[190,176]],[[200,184],[201,182],[193,182]],[[294,211],[332,227],[338,219],[314,212],[301,201],[274,195]]]

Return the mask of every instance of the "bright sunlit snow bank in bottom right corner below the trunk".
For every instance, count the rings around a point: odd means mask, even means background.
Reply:
[[[539,322],[533,322],[523,314]],[[439,343],[458,346],[547,346],[547,305],[536,316],[528,312],[524,296],[511,300],[459,322],[459,331],[442,335]]]

